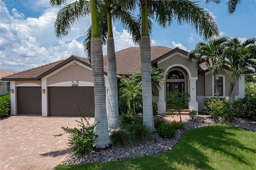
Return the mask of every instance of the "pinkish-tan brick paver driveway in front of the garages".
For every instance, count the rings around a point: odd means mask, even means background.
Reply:
[[[80,118],[11,116],[0,121],[0,169],[51,170],[64,160],[68,134],[60,128],[77,127]],[[93,123],[94,119],[90,119]]]

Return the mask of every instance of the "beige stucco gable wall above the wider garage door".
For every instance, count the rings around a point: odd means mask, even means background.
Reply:
[[[65,81],[93,82],[92,71],[81,65],[70,65],[47,78],[47,85]]]

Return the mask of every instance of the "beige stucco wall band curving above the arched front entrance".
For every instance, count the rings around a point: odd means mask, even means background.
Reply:
[[[166,57],[164,60],[161,60],[160,62],[158,62],[157,67],[159,69],[164,69],[164,71],[166,71],[168,67],[175,64],[183,65],[187,67],[191,73],[191,77],[197,77],[197,69],[194,65],[194,62],[191,63],[190,61],[188,61],[187,56],[183,54],[179,55],[177,53],[173,53],[170,56]]]

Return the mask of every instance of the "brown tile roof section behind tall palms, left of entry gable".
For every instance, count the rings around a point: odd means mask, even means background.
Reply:
[[[171,51],[172,48],[164,46],[151,46],[151,61]],[[107,65],[107,56],[103,57]],[[116,71],[120,75],[132,75],[140,71],[140,47],[129,47],[116,51]]]

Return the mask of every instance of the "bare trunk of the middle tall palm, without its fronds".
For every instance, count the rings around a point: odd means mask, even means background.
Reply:
[[[117,94],[117,77],[116,77],[116,54],[112,32],[112,20],[110,12],[107,13],[108,20],[108,45],[107,45],[107,61],[108,61],[108,128],[114,131],[119,128],[118,113],[118,94]]]

